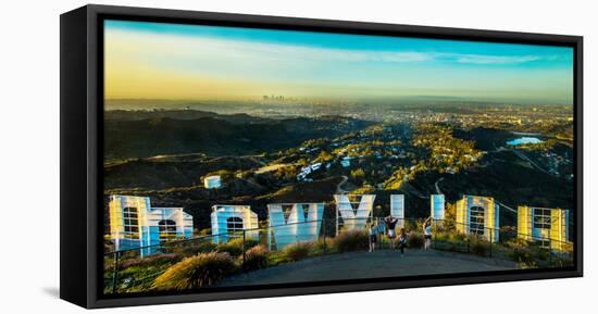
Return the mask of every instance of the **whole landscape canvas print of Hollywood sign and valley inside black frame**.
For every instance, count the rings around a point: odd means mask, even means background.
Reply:
[[[573,48],[107,20],[103,49],[105,296],[574,266]]]

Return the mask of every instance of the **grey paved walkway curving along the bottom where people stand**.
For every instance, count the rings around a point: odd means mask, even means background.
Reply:
[[[311,258],[225,279],[221,286],[270,285],[301,281],[400,277],[514,269],[510,261],[443,251],[381,250]]]

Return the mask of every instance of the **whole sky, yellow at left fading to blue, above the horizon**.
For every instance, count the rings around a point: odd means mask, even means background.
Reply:
[[[447,97],[571,104],[566,47],[104,22],[105,99]]]

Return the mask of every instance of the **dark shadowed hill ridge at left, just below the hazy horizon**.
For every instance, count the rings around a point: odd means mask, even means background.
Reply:
[[[367,125],[341,117],[265,120],[196,114],[204,116],[183,120],[164,116],[162,112],[111,113],[108,117],[112,118],[104,123],[105,159],[185,153],[262,154],[296,147],[307,139],[336,137]]]

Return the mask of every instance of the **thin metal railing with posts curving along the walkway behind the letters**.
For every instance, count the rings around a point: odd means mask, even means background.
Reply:
[[[377,234],[377,249],[390,248],[383,217],[354,219],[367,219],[366,228],[372,224],[383,226]],[[411,247],[411,249],[423,247],[425,242],[423,237],[423,219],[404,218],[399,221],[396,231],[398,234],[400,228],[404,228],[408,235],[407,247]],[[299,233],[295,235],[291,233],[282,235],[284,233],[279,233],[285,229],[288,231],[288,229],[296,226],[313,226],[313,224],[320,225],[315,228],[316,233]],[[494,259],[519,259],[516,262],[536,263],[535,266],[537,267],[555,265],[555,261],[559,261],[562,264],[573,259],[573,244],[571,242],[533,237],[532,235],[518,234],[515,230],[499,228],[476,227],[476,233],[468,234],[462,231],[470,230],[469,227],[471,226],[468,224],[459,224],[453,221],[433,221],[431,249],[470,253]],[[239,258],[241,265],[246,262],[248,249],[256,244],[263,244],[270,251],[279,251],[291,243],[321,241],[324,252],[327,253],[328,243],[326,239],[335,238],[336,235],[347,229],[339,225],[335,218],[322,218],[110,251],[104,253],[103,259],[104,292],[119,293],[121,289],[130,287],[149,287],[153,279],[163,274],[169,266],[183,258],[192,256],[198,253],[213,251],[229,252],[232,255]],[[479,233],[479,230],[484,233]],[[226,241],[221,241],[220,239],[222,238],[225,238]],[[565,249],[555,250],[555,247]],[[141,272],[141,269],[145,271]]]

